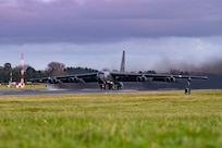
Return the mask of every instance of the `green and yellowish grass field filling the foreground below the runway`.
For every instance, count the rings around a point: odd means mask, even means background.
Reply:
[[[221,90],[0,97],[2,148],[221,146]]]

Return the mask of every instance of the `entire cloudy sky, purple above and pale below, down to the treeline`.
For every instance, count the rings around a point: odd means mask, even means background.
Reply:
[[[221,0],[0,0],[0,65],[158,72],[222,62]]]

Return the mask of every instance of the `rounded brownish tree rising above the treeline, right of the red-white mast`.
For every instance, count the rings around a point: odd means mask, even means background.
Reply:
[[[59,76],[59,75],[64,75],[64,69],[65,69],[65,65],[63,63],[51,62],[48,64],[46,71],[50,76]]]

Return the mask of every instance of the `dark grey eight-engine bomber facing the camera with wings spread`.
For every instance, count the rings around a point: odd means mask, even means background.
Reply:
[[[51,76],[33,78],[33,83],[47,84],[89,84],[97,83],[101,89],[123,89],[125,82],[165,82],[176,83],[177,79],[187,79],[187,87],[185,94],[190,94],[192,79],[208,79],[207,76],[192,76],[192,75],[171,75],[171,74],[143,74],[143,73],[127,73],[125,72],[125,51],[123,51],[122,63],[120,72],[100,71],[85,74],[73,74],[62,76]]]

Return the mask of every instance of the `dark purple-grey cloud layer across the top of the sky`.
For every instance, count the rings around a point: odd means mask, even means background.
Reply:
[[[5,3],[0,1],[1,44],[87,44],[222,35],[220,0],[14,0]]]

